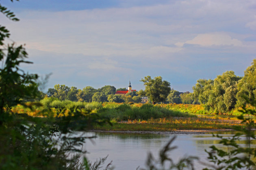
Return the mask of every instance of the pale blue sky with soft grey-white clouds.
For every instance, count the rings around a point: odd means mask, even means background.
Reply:
[[[9,42],[25,44],[22,68],[46,88],[104,85],[145,89],[161,76],[192,92],[198,79],[233,70],[243,76],[256,58],[255,0],[0,0],[20,19],[0,15]]]

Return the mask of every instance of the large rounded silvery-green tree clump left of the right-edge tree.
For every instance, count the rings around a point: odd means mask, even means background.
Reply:
[[[213,80],[200,79],[193,86],[193,100],[214,113],[226,113],[235,108],[237,83],[241,79],[233,71],[224,72]]]

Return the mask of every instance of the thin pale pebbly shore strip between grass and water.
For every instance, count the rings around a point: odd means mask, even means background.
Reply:
[[[168,131],[168,132],[89,130],[89,132],[124,133],[124,134],[206,134],[206,133],[225,132],[225,131],[232,131],[232,129],[226,129],[226,130],[175,130],[175,131]]]

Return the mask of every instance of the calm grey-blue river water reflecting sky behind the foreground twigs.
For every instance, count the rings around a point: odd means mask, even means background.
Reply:
[[[223,136],[230,136],[234,132],[222,132]],[[86,154],[90,161],[94,162],[99,157],[108,155],[105,166],[112,160],[115,170],[136,170],[138,166],[145,168],[145,161],[149,152],[154,157],[158,157],[159,150],[175,136],[174,134],[121,134],[121,133],[95,133],[86,132],[86,136],[97,136],[93,142],[87,141],[83,146],[89,153]],[[212,134],[178,134],[171,146],[178,148],[172,151],[171,158],[177,161],[184,155],[193,155],[200,157],[201,161],[206,162],[208,154],[205,149],[218,144],[219,139]],[[245,143],[245,139],[240,141]],[[252,147],[256,147],[255,141]],[[225,148],[222,148],[225,149]],[[205,166],[195,162],[196,169],[202,169]]]

